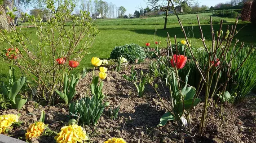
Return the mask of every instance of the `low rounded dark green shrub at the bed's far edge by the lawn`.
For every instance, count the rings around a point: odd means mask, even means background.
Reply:
[[[112,50],[110,58],[118,59],[119,57],[126,58],[129,63],[136,63],[136,59],[138,59],[137,63],[141,63],[146,58],[146,53],[141,46],[131,43],[124,46],[116,46]]]

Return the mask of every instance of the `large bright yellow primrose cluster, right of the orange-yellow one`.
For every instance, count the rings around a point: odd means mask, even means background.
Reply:
[[[61,130],[62,131],[54,137],[56,143],[82,143],[89,139],[83,128],[76,124],[63,126]]]

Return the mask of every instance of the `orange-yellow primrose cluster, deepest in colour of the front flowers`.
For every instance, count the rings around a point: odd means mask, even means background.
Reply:
[[[37,138],[44,132],[44,123],[43,122],[35,122],[29,126],[26,130],[26,139]]]

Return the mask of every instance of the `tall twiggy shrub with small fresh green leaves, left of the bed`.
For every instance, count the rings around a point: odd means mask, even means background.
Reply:
[[[76,59],[80,62],[88,54],[88,48],[92,46],[99,32],[93,27],[89,13],[80,11],[80,17],[73,15],[73,0],[61,0],[58,4],[56,2],[45,1],[46,22],[43,22],[43,17],[35,18],[21,13],[22,17],[29,17],[30,24],[35,27],[33,36],[31,31],[20,32],[20,28],[13,28],[12,33],[0,30],[0,44],[5,44],[3,48],[17,47],[19,50],[20,56],[13,64],[34,80],[36,89],[40,90],[38,97],[49,104],[53,104],[53,99],[57,98],[54,89],[63,86],[63,74],[70,71],[71,67],[67,61]],[[15,15],[15,10],[8,10],[10,17]],[[66,23],[71,26],[66,28]],[[10,62],[5,53],[2,53],[1,57]],[[57,58],[66,58],[66,63],[58,64]]]

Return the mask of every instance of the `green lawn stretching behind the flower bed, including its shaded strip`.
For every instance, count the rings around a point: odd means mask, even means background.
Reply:
[[[206,38],[207,45],[211,44],[211,33],[210,25],[207,24],[207,19],[210,19],[211,13],[199,14],[202,25],[203,33]],[[183,23],[185,24],[185,30],[191,40],[191,43],[196,47],[201,47],[202,42],[199,38],[201,35],[199,33],[199,26],[196,25],[196,15],[181,15]],[[217,17],[214,21],[220,21]],[[234,19],[224,18],[224,29],[227,25],[234,25]],[[189,24],[191,22],[193,24]],[[146,42],[151,42],[151,45],[154,43],[154,38],[156,41],[161,41],[161,47],[166,47],[166,37],[167,32],[170,36],[177,36],[177,40],[184,40],[184,35],[181,32],[181,28],[177,23],[177,18],[175,16],[169,16],[167,29],[163,30],[163,17],[150,17],[150,18],[137,18],[137,19],[114,19],[114,20],[96,20],[94,24],[98,25],[100,34],[97,35],[93,47],[89,50],[90,55],[87,55],[83,61],[80,63],[78,70],[81,70],[83,67],[91,67],[90,59],[93,56],[97,56],[101,59],[107,59],[110,56],[112,49],[115,46],[121,46],[127,43],[136,43],[140,46],[145,46]],[[231,23],[232,22],[232,23]],[[216,22],[217,23],[217,22]],[[215,30],[219,29],[219,24],[214,24]],[[243,28],[243,29],[241,29]],[[157,29],[157,33],[154,37],[154,31]],[[246,45],[256,44],[256,36],[252,31],[256,31],[256,27],[244,23],[238,23],[238,29],[241,29],[236,36],[237,39],[240,39],[241,42],[245,42]],[[33,28],[24,28],[26,31],[32,31],[35,35],[35,29]],[[33,36],[32,36],[33,37]],[[174,38],[172,38],[172,41]],[[1,49],[6,49],[8,47],[2,46]],[[9,66],[7,63],[0,63],[0,81],[6,81],[8,76]]]

